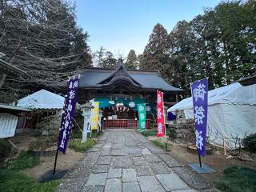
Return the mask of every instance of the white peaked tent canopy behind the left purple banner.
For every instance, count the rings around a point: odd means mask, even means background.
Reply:
[[[38,90],[34,94],[18,100],[17,106],[34,110],[61,110],[64,106],[64,100],[64,97],[48,90]]]

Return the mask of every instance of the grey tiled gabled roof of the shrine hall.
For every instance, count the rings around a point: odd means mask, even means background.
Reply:
[[[91,68],[83,71],[79,87],[101,88],[118,81],[127,81],[131,86],[145,90],[182,91],[168,84],[156,70],[126,70],[123,64],[119,64],[115,70]]]

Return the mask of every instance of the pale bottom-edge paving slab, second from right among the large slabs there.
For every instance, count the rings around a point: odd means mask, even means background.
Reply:
[[[138,177],[139,186],[142,192],[165,192],[158,179],[154,176],[141,176]]]

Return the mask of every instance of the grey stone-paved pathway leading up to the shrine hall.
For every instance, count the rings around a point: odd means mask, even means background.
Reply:
[[[97,144],[62,178],[58,191],[216,190],[136,131],[106,130]]]

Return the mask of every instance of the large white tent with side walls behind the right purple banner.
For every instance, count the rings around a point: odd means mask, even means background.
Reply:
[[[184,110],[186,119],[194,118],[192,98],[183,99],[167,111]],[[256,132],[256,85],[236,82],[208,92],[208,129],[210,141],[222,145]],[[233,137],[233,138],[232,138]],[[228,143],[230,146],[232,143]]]

